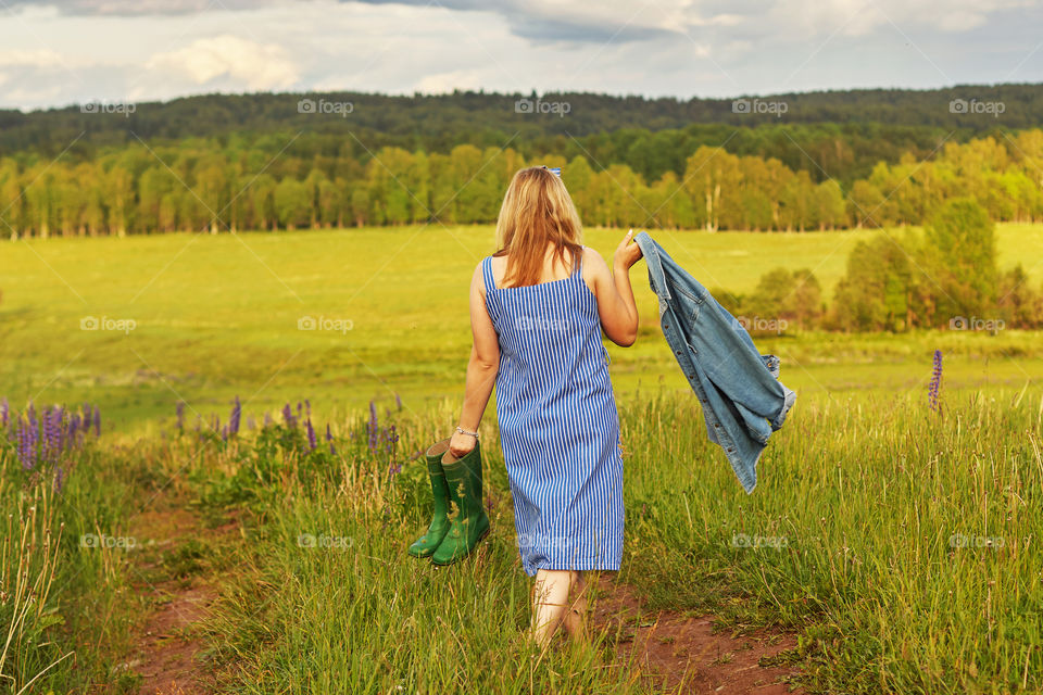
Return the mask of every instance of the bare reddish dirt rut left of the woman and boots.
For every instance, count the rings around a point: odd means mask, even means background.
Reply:
[[[214,548],[234,541],[238,525],[206,528],[183,503],[159,497],[130,521],[143,543],[130,571],[148,614],[134,634],[125,665],[139,695],[203,695],[216,691],[212,670],[199,660],[201,621],[217,597],[209,576]]]

